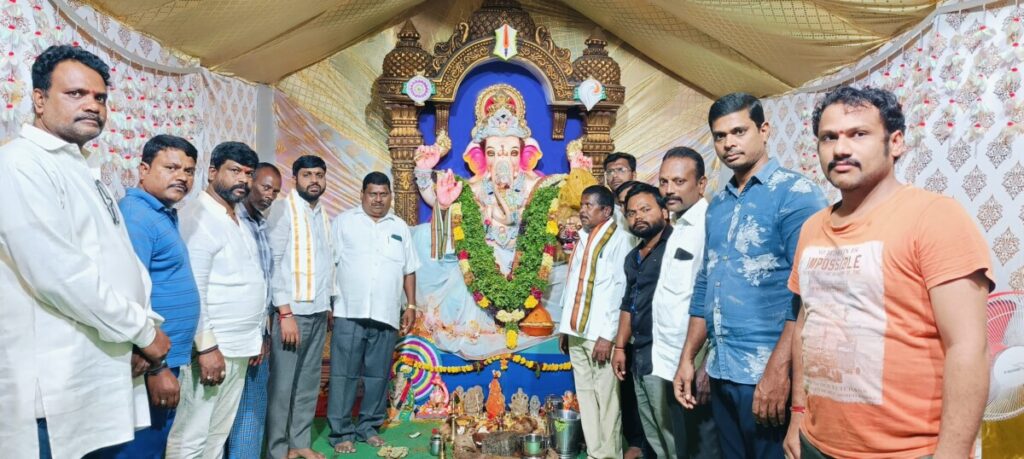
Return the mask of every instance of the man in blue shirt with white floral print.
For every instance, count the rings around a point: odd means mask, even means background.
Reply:
[[[693,359],[707,339],[723,455],[782,458],[797,317],[786,281],[801,226],[826,202],[814,182],[768,157],[770,127],[753,95],[719,98],[708,123],[715,152],[733,176],[708,208],[677,398],[693,406]]]

